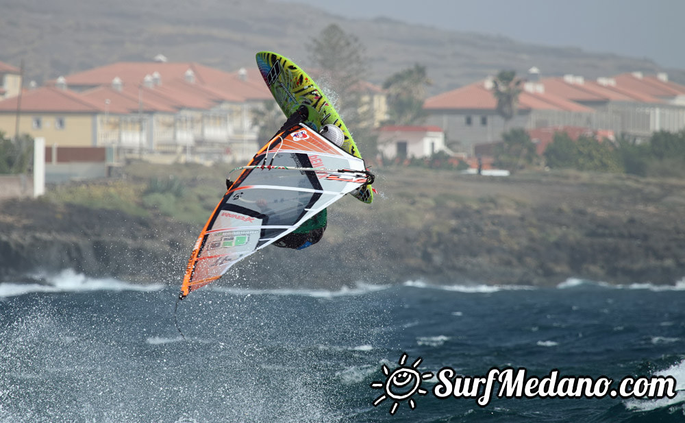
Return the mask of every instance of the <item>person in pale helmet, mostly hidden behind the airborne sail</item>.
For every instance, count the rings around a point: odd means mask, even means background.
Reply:
[[[319,112],[316,111],[311,106],[302,105],[299,106],[295,113],[291,114],[286,123],[284,123],[278,132],[284,132],[289,130],[295,125],[299,125],[303,122],[311,121],[320,123]],[[318,126],[321,126],[320,124]],[[278,133],[277,132],[277,133]],[[320,131],[321,135],[324,136],[328,141],[331,141],[338,147],[343,147],[345,142],[345,134],[343,130],[338,128],[336,125],[328,124],[324,125]],[[233,184],[232,180],[226,180],[226,188],[231,189]],[[259,206],[266,206],[266,204],[259,204]],[[327,212],[324,208],[316,215],[310,217],[304,223],[299,226],[296,230],[290,232],[285,237],[282,237],[278,241],[275,241],[273,245],[276,247],[292,248],[294,250],[302,250],[303,248],[314,245],[315,243],[321,241],[323,238],[323,232],[326,230],[328,224]]]

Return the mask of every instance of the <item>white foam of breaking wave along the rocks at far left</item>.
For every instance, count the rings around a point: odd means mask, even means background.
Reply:
[[[45,280],[45,284],[14,283],[0,284],[0,297],[13,297],[35,292],[86,292],[86,291],[159,291],[164,285],[140,285],[114,278],[90,278],[78,274],[73,269],[65,269],[58,274],[34,275]]]

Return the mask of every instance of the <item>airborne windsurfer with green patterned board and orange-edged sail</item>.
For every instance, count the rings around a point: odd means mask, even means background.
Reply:
[[[235,182],[226,181],[190,253],[179,299],[268,245],[302,249],[320,241],[325,209],[344,195],[373,201],[373,174],[319,86],[273,51],[260,51],[256,59],[287,120],[247,166],[234,169],[240,170]]]

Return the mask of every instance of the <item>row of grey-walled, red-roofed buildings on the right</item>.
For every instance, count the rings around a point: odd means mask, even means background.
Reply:
[[[430,97],[428,122],[445,128],[448,145],[473,153],[473,145],[495,143],[505,130],[497,101],[485,80]],[[665,74],[625,73],[585,80],[577,75],[525,82],[516,116],[507,128],[578,127],[650,136],[685,128],[685,86]],[[456,148],[456,147],[455,147]]]

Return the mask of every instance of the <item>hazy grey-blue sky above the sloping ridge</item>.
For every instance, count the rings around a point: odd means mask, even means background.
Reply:
[[[279,0],[544,45],[650,58],[685,69],[685,0]]]

